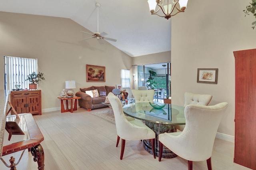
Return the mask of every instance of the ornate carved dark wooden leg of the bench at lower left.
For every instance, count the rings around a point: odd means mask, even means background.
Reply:
[[[41,144],[32,147],[31,154],[34,156],[34,162],[38,164],[38,170],[44,170],[44,150]]]

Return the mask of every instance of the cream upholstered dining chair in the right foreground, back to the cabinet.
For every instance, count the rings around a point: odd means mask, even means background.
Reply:
[[[226,102],[213,106],[187,105],[184,109],[186,119],[184,130],[158,135],[158,161],[161,161],[164,145],[178,156],[188,160],[188,170],[192,170],[193,161],[204,160],[207,160],[208,170],[211,170],[214,139],[227,106]]]

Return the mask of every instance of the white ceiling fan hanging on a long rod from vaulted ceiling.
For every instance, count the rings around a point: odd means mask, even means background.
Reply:
[[[97,18],[98,30],[97,30],[97,32],[94,32],[93,34],[88,33],[88,32],[83,32],[83,31],[81,31],[81,32],[92,35],[91,38],[96,38],[100,44],[103,43],[102,40],[109,40],[109,41],[116,42],[116,39],[104,37],[104,36],[108,35],[108,33],[106,33],[106,32],[100,33],[99,32],[99,7],[100,7],[100,3],[96,3],[96,7],[97,7],[97,10],[98,10],[98,15],[97,15],[98,16],[98,18]],[[88,40],[88,39],[91,39],[91,38],[84,38],[82,40]]]

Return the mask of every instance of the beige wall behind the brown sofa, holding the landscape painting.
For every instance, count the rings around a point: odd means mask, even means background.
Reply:
[[[75,80],[76,89],[91,85],[115,86],[121,83],[120,70],[131,69],[132,57],[108,42],[100,45],[95,39],[82,41],[88,32],[66,18],[0,12],[0,56],[38,58],[44,81],[42,109],[59,108],[57,97],[65,88],[65,80]],[[0,59],[0,79],[3,82],[3,59]],[[86,64],[106,66],[106,82],[86,82]],[[4,89],[0,83],[0,89]]]

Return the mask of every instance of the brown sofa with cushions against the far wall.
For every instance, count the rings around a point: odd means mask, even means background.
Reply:
[[[91,97],[85,93],[85,91],[95,89],[98,90],[98,93],[100,94],[99,97]],[[80,91],[76,93],[76,96],[81,97],[81,99],[78,99],[78,105],[84,109],[87,109],[88,111],[108,107],[107,105],[102,104],[102,102],[105,102],[106,96],[108,96],[108,93],[112,92],[113,89],[115,89],[114,86],[91,86],[83,89],[80,88]],[[124,96],[127,98],[128,93]]]

